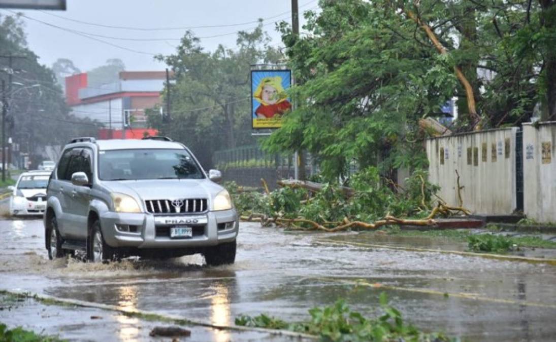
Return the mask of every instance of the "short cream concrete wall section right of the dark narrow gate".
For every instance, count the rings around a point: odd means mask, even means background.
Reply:
[[[523,124],[523,209],[527,218],[556,223],[556,122]]]

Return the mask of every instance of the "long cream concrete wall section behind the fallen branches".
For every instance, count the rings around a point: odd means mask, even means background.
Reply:
[[[429,181],[441,187],[439,196],[459,205],[456,173],[460,175],[463,206],[474,214],[503,215],[517,205],[515,133],[505,128],[455,134],[426,141]]]

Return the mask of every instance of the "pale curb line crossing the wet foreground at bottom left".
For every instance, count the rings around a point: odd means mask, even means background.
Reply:
[[[101,309],[107,311],[115,311],[127,316],[133,316],[143,320],[166,321],[176,325],[196,325],[196,326],[203,326],[205,328],[213,328],[218,330],[232,330],[232,331],[240,331],[240,332],[256,331],[258,333],[267,333],[274,336],[286,336],[292,339],[310,339],[310,340],[318,339],[318,336],[315,335],[295,333],[294,331],[289,331],[289,330],[250,328],[247,326],[239,326],[239,325],[215,325],[206,321],[189,319],[178,315],[162,314],[156,311],[122,308],[121,306],[117,306],[117,305],[93,303],[91,301],[84,301],[84,300],[77,300],[77,299],[58,298],[46,294],[31,293],[29,291],[0,289],[0,294],[24,296],[26,298],[32,298],[34,300],[37,300],[43,304],[75,305],[75,306],[80,306],[82,308],[95,308],[95,309]]]

